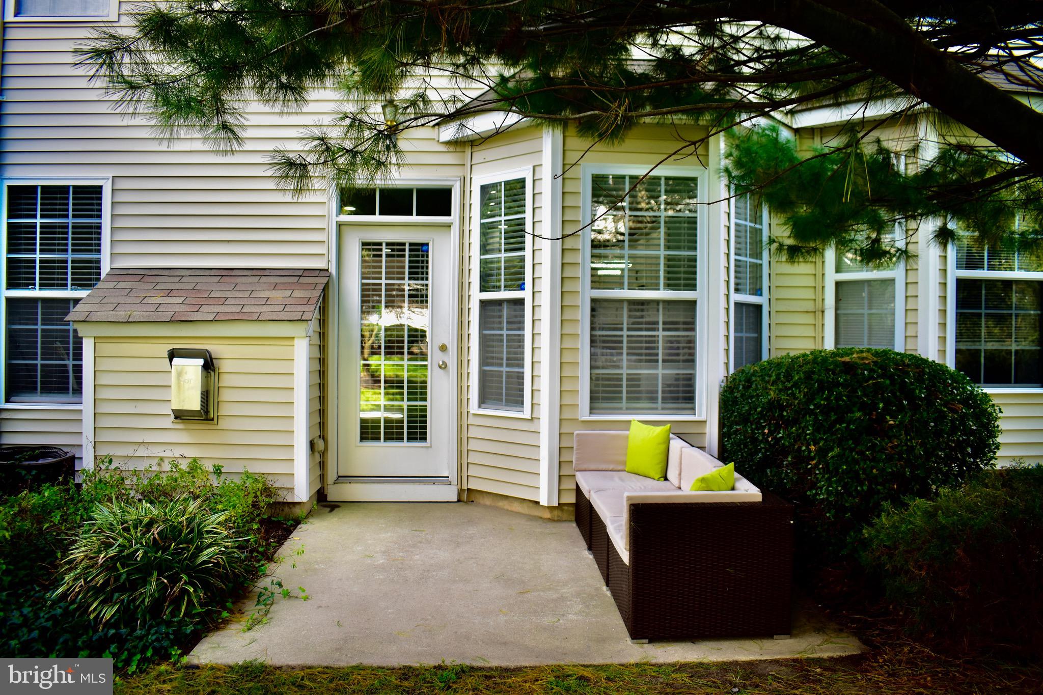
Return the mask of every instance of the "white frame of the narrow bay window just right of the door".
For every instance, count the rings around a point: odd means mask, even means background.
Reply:
[[[475,176],[470,180],[470,389],[468,412],[472,415],[493,415],[501,418],[532,419],[532,263],[533,263],[533,172],[532,167],[522,167],[494,174]],[[525,179],[525,290],[510,292],[481,291],[481,191],[483,185],[501,183],[517,178]],[[481,407],[479,400],[479,378],[481,376],[481,340],[479,326],[480,303],[483,300],[524,299],[525,300],[525,376],[523,377],[524,402],[520,411]]]

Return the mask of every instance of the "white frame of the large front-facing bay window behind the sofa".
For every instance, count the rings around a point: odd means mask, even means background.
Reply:
[[[709,353],[709,337],[707,336],[707,268],[709,247],[707,245],[708,214],[705,204],[709,191],[706,169],[702,167],[656,167],[654,165],[580,165],[580,232],[581,240],[581,272],[580,272],[580,420],[599,422],[629,422],[630,420],[670,420],[674,422],[706,420],[706,381],[707,354]],[[697,224],[698,255],[696,256],[696,273],[698,281],[695,292],[676,291],[641,291],[641,290],[591,290],[590,289],[590,204],[591,176],[595,174],[620,174],[650,176],[682,176],[695,178],[699,185],[699,214]],[[679,413],[590,413],[590,300],[591,299],[676,299],[696,302],[696,393],[695,412],[690,415]]]

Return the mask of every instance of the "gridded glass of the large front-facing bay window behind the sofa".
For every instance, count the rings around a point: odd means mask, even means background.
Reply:
[[[642,175],[590,174],[590,415],[696,414],[699,179]]]

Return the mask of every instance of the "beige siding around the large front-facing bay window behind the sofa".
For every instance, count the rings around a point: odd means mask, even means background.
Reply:
[[[652,168],[671,152],[677,150],[684,141],[696,140],[705,130],[695,126],[641,125],[633,128],[626,140],[615,145],[604,143],[593,146],[590,141],[580,138],[569,129],[564,134],[562,181],[562,233],[576,232],[582,222],[581,209],[581,164],[639,165]],[[704,167],[709,152],[704,146],[699,156],[684,158],[669,157],[663,166]],[[575,165],[575,166],[574,166]],[[560,471],[562,503],[576,501],[576,476],[573,471],[573,432],[580,429],[626,429],[629,424],[625,417],[617,421],[584,420],[580,414],[580,320],[581,320],[581,264],[582,249],[579,233],[572,233],[562,241],[561,247],[561,437]],[[708,259],[709,260],[709,259]],[[708,267],[708,263],[703,266]],[[705,301],[705,300],[704,300]],[[712,326],[708,330],[714,331]],[[705,374],[699,375],[705,378]],[[709,384],[708,392],[714,393],[715,384]],[[706,421],[653,421],[649,424],[670,422],[672,431],[696,446],[706,446]]]

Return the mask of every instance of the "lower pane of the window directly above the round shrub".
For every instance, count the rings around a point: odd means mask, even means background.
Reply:
[[[895,281],[836,282],[836,347],[895,347]]]

